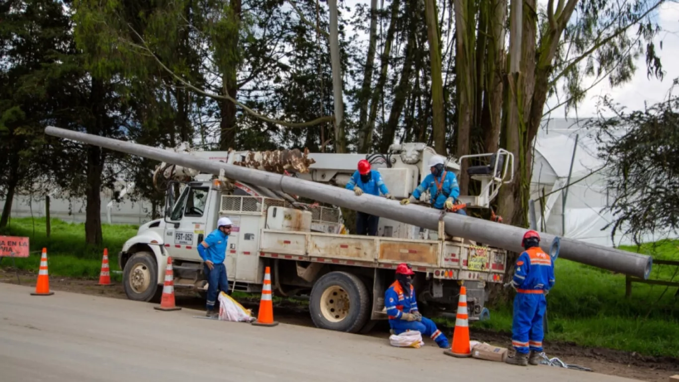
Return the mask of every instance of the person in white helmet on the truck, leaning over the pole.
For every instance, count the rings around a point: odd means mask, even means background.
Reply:
[[[432,156],[429,159],[431,173],[424,177],[420,186],[413,191],[409,198],[403,199],[401,204],[407,205],[417,201],[422,193],[428,189],[431,196],[430,203],[435,209],[452,209],[458,196],[460,196],[460,186],[458,185],[458,177],[455,176],[455,173],[443,169],[444,163],[445,161],[442,156]],[[456,213],[466,215],[464,209],[458,209]]]

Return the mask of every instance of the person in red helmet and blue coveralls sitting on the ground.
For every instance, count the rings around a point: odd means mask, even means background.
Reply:
[[[396,268],[396,281],[384,293],[389,326],[396,335],[407,330],[417,330],[423,336],[430,336],[439,347],[447,349],[449,345],[445,335],[436,328],[432,320],[422,317],[418,311],[415,288],[412,285],[413,275],[415,273],[408,264],[399,264]]]

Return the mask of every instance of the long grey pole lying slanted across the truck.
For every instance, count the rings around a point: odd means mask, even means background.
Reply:
[[[218,175],[220,171],[224,171],[224,174],[227,177],[270,188],[272,190],[282,191],[287,194],[304,196],[323,203],[377,215],[382,218],[396,220],[397,222],[405,222],[414,226],[432,230],[438,228],[440,211],[433,208],[418,205],[401,206],[397,201],[390,201],[386,198],[369,194],[355,196],[350,190],[330,186],[328,184],[267,173],[265,171],[246,169],[244,167],[225,164],[223,162],[213,162],[196,158],[189,154],[179,154],[168,150],[160,150],[155,147],[118,141],[116,139],[99,137],[97,135],[77,133],[75,131],[52,126],[45,128],[45,133],[54,135],[55,137],[72,139],[74,141],[105,147],[110,150],[142,156],[144,158],[179,164],[181,166],[215,175]],[[526,231],[524,228],[491,222],[490,220],[471,218],[456,213],[447,213],[443,218],[443,221],[445,222],[445,232],[448,235],[464,237],[483,243],[484,245],[491,245],[509,251],[523,251],[523,248],[521,247],[521,237]],[[550,243],[553,241],[555,235],[540,232],[540,237],[542,238],[540,246],[543,247],[545,251],[549,251]],[[623,273],[625,275],[640,277],[642,279],[648,278],[650,268],[653,264],[653,259],[650,258],[650,256],[634,254],[632,252],[621,251],[619,249],[589,244],[568,238],[561,238],[559,257],[596,266],[598,268],[604,268],[609,271]]]

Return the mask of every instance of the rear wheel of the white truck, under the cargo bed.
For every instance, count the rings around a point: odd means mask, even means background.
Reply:
[[[309,311],[318,328],[357,333],[370,319],[370,309],[368,288],[351,273],[323,275],[311,290]]]

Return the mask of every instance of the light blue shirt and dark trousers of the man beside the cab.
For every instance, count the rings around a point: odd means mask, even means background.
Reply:
[[[205,302],[206,309],[214,309],[215,302],[217,302],[217,294],[219,291],[228,292],[229,280],[226,277],[226,266],[224,260],[226,258],[226,245],[229,241],[228,235],[224,235],[219,229],[213,230],[205,238],[204,242],[208,247],[204,247],[202,243],[198,244],[198,254],[203,261],[210,260],[213,262],[213,269],[210,270],[207,264],[203,266],[203,272],[208,279],[208,296]]]

